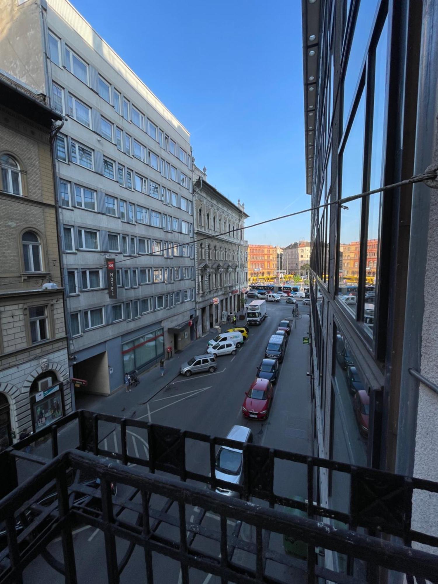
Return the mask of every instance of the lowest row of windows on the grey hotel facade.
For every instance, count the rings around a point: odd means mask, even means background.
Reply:
[[[106,307],[90,308],[88,310],[71,312],[70,335],[72,337],[82,335],[82,332],[105,326],[120,321],[131,321],[141,318],[149,312],[173,308],[176,304],[194,300],[194,288],[159,294],[148,298],[130,300],[125,303],[109,304]],[[41,307],[43,308],[43,307]],[[46,324],[47,327],[47,324]],[[46,338],[48,338],[46,336]],[[43,340],[43,339],[40,339]]]

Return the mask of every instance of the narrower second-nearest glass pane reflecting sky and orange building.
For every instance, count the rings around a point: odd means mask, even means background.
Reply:
[[[365,113],[365,92],[363,93],[356,116],[342,154],[342,188],[341,197],[349,197],[362,192],[363,133]],[[340,210],[339,237],[339,287],[341,300],[356,314],[357,283],[359,280],[359,239],[361,200],[350,201]]]

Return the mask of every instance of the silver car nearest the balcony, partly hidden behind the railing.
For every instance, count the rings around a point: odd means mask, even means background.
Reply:
[[[238,440],[239,442],[252,442],[252,432],[245,426],[233,426],[228,432],[228,440]],[[215,477],[222,481],[232,482],[241,485],[244,481],[244,453],[242,450],[221,446],[216,455]],[[227,497],[239,497],[237,491],[230,491],[222,486],[216,488],[217,493]]]

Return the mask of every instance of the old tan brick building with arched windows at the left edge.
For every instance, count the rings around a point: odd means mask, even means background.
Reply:
[[[0,451],[72,409],[50,147],[61,119],[0,74]]]

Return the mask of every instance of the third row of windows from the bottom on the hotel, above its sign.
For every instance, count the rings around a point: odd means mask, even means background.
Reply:
[[[193,258],[193,244],[178,244],[161,239],[123,235],[85,227],[64,225],[62,239],[65,252],[109,251],[123,255],[154,254],[165,258]]]

